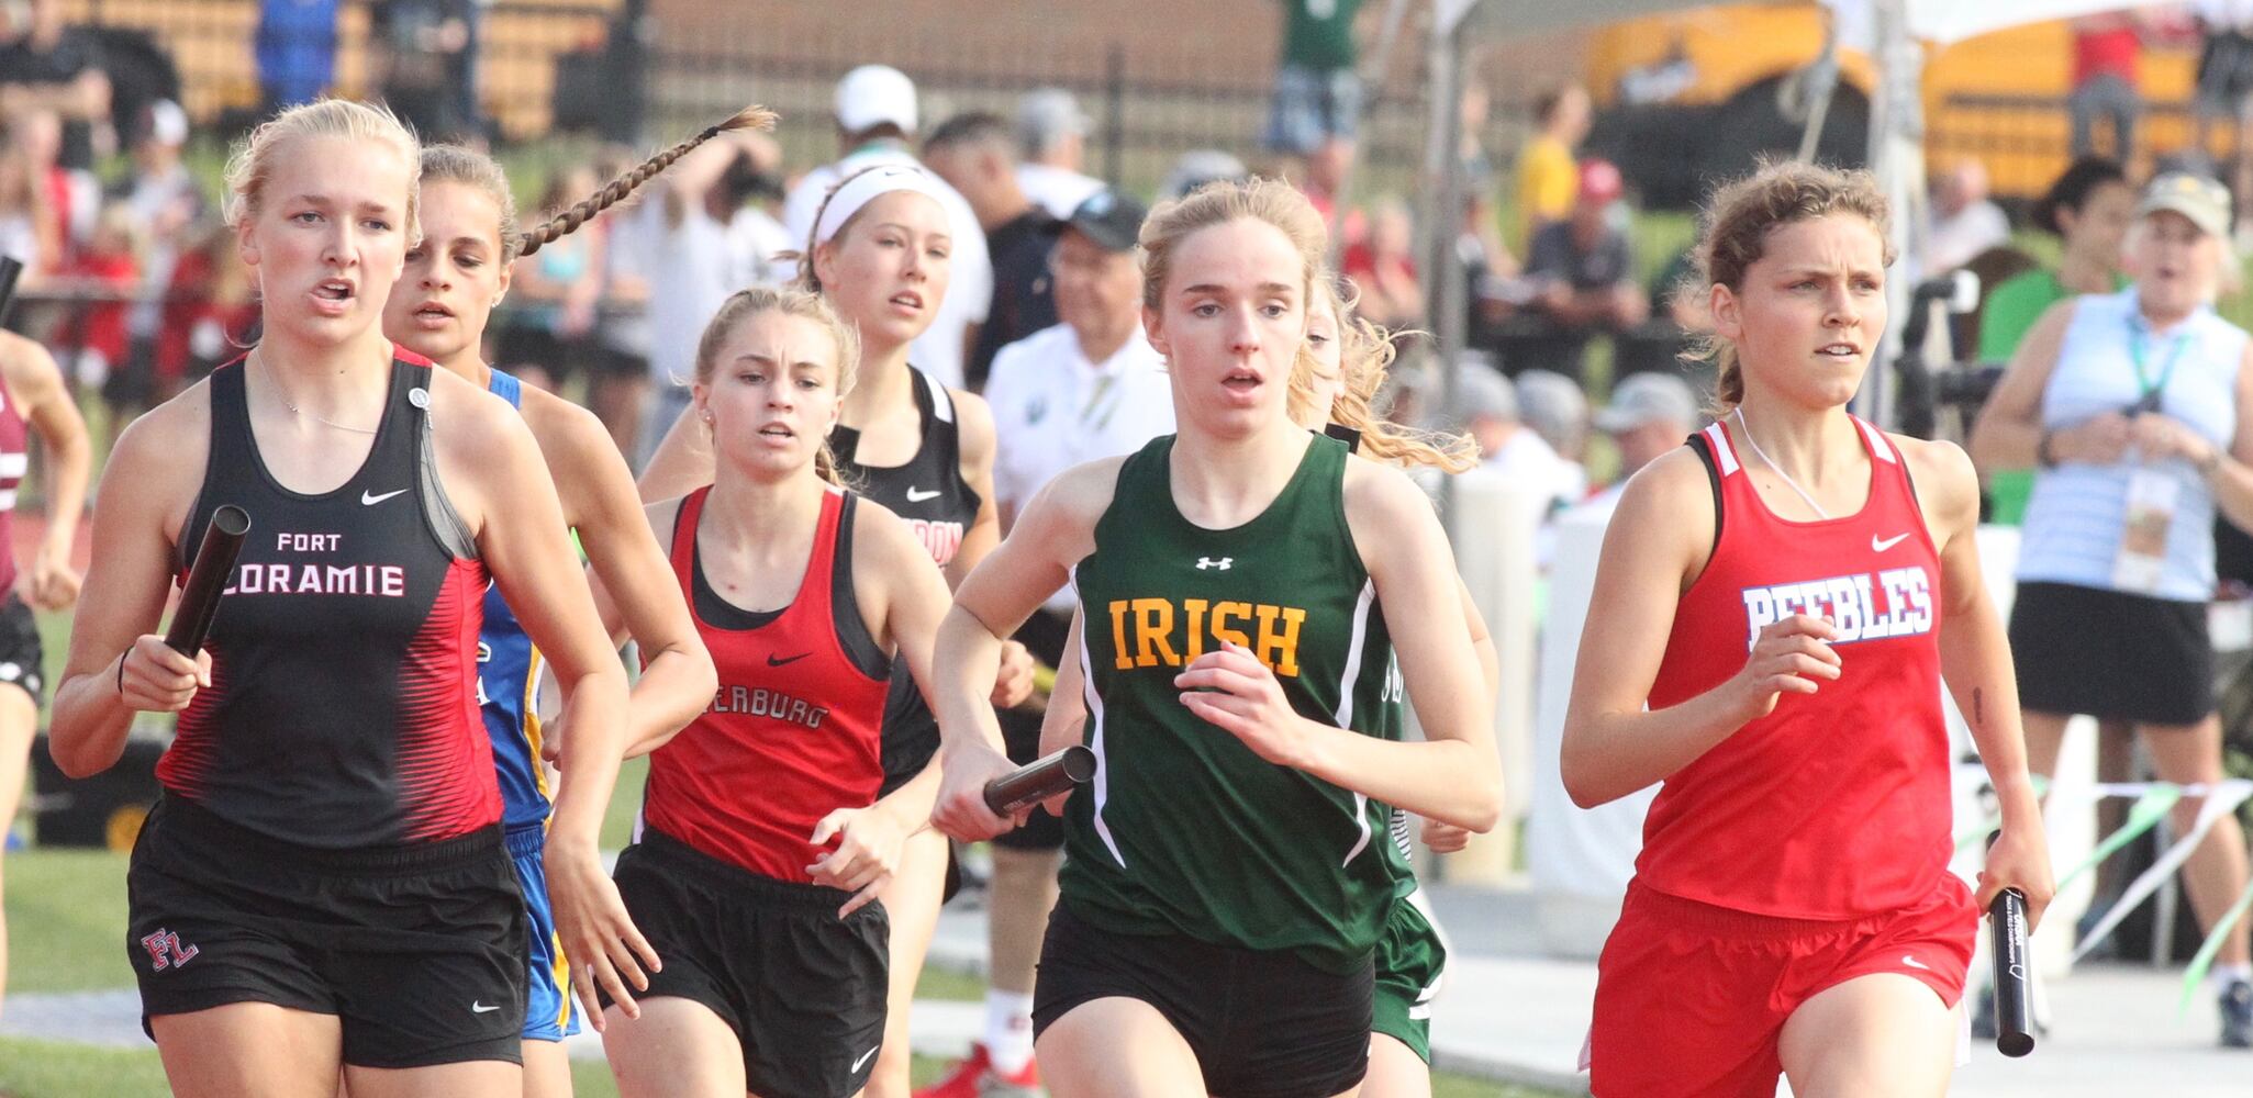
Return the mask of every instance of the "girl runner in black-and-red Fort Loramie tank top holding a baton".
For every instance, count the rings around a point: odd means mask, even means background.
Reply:
[[[250,135],[230,220],[266,335],[133,423],[101,482],[54,756],[92,774],[137,711],[182,713],[128,871],[128,956],[182,1096],[327,1096],[338,1073],[360,1098],[518,1094],[525,916],[473,688],[487,576],[579,729],[547,846],[579,997],[656,965],[595,853],[624,668],[538,450],[514,410],[376,328],[417,232],[417,155],[351,101]],[[151,630],[228,502],[252,533],[189,659]]]

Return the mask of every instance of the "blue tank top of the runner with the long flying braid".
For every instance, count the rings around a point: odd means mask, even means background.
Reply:
[[[484,389],[509,407],[525,407],[523,385],[498,369]],[[511,830],[541,826],[554,808],[547,770],[541,765],[538,693],[545,664],[532,648],[516,612],[498,585],[484,587],[484,630],[478,632],[478,711],[493,738],[493,770],[500,774],[500,819]]]

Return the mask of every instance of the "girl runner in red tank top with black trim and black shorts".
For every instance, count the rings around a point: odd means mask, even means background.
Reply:
[[[928,682],[946,580],[834,484],[856,340],[820,297],[741,290],[696,351],[716,477],[649,522],[719,691],[649,758],[617,886],[665,970],[604,1046],[629,1098],[856,1094],[885,1033],[876,896],[937,794],[930,767],[879,801],[885,695],[894,655]]]

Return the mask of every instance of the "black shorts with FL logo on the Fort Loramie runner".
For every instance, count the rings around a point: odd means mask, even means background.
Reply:
[[[338,1015],[354,1066],[523,1062],[529,932],[498,824],[322,850],[167,794],[133,844],[126,898],[142,1028],[275,1004]]]

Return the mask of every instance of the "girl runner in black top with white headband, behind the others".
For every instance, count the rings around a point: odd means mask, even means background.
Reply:
[[[861,333],[838,425],[829,434],[838,477],[883,504],[921,538],[960,583],[1000,540],[994,511],[994,416],[978,396],[949,389],[908,362],[946,297],[953,230],[937,180],[919,166],[865,169],[829,194],[800,259],[800,279]],[[674,423],[642,470],[642,500],[683,495],[712,482],[710,432],[692,416]],[[1032,693],[1023,646],[991,686],[1012,706]],[[940,729],[915,682],[892,675],[883,716],[883,794],[924,799],[937,790]],[[949,848],[933,830],[910,835],[883,891],[892,918],[892,997],[883,1051],[870,1087],[908,1096],[908,1008],[946,893]]]

